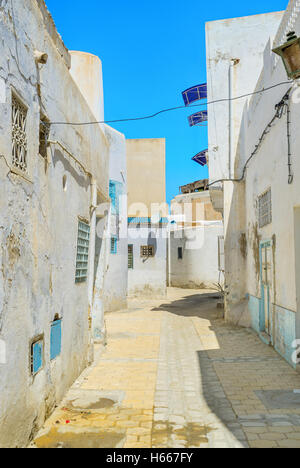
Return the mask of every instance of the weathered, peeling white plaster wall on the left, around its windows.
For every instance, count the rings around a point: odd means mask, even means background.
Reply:
[[[0,104],[0,339],[7,350],[7,362],[0,364],[0,447],[27,443],[86,366],[90,345],[87,283],[75,284],[78,216],[90,218],[90,180],[58,147],[51,146],[45,164],[38,135],[40,105],[54,122],[94,116],[69,73],[67,51],[58,36],[49,35],[52,23],[44,24],[39,4],[0,2],[0,78],[6,91]],[[49,56],[39,71],[35,48]],[[28,107],[28,180],[8,168],[12,88]],[[108,195],[108,143],[99,127],[53,125],[50,138],[65,145]],[[50,324],[56,314],[63,321],[62,353],[50,363]],[[29,349],[40,334],[44,367],[33,378]]]

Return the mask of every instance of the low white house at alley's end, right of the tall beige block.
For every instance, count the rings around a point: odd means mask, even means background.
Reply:
[[[169,285],[209,289],[223,283],[222,215],[214,210],[208,190],[185,186],[171,202]]]

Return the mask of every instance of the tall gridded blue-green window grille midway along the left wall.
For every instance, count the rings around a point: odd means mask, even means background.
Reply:
[[[76,283],[85,283],[88,277],[90,226],[84,221],[78,223],[78,242],[76,259]]]

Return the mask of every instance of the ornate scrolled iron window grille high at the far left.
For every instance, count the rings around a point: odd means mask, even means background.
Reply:
[[[21,171],[27,169],[27,108],[12,95],[12,163]]]

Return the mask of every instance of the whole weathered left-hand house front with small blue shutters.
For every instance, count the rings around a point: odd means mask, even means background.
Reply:
[[[93,357],[113,143],[73,125],[101,115],[101,62],[66,49],[43,0],[2,2],[0,32],[0,447],[23,447]]]

